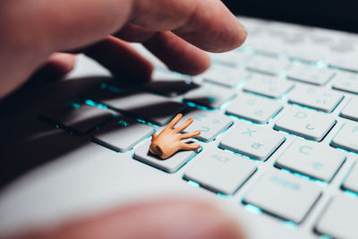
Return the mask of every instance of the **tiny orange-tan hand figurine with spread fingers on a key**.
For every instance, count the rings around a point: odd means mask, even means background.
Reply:
[[[182,114],[176,115],[172,122],[170,122],[162,132],[160,132],[158,135],[156,133],[151,135],[152,139],[149,146],[149,151],[152,154],[158,155],[158,157],[162,159],[166,159],[174,155],[180,149],[200,148],[200,144],[189,144],[182,142],[182,140],[198,136],[200,131],[179,134],[180,132],[183,132],[183,130],[185,130],[190,124],[192,124],[192,118],[187,119],[182,125],[173,129],[175,124],[178,124],[182,117]]]

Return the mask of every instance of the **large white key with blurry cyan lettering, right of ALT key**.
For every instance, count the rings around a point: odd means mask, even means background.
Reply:
[[[243,202],[298,224],[319,197],[318,185],[277,170],[263,175]]]

